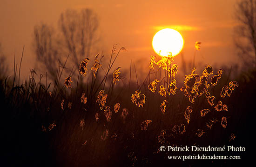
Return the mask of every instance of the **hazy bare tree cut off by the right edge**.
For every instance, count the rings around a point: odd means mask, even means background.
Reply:
[[[256,67],[256,0],[241,0],[236,4],[235,44],[238,56],[247,67]]]

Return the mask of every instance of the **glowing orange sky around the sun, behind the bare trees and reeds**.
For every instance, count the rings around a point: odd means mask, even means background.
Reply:
[[[233,19],[236,0],[1,0],[0,43],[13,63],[16,49],[20,58],[25,45],[22,71],[34,67],[33,29],[45,22],[56,26],[61,12],[68,8],[92,8],[100,20],[101,43],[110,53],[114,43],[126,47],[117,61],[129,67],[130,60],[149,61],[155,54],[151,47],[153,35],[165,27],[176,27],[185,45],[183,54],[191,60],[195,41],[201,41],[197,62],[229,66],[238,62],[233,44]],[[175,57],[180,61],[180,56]],[[11,67],[13,64],[11,64]],[[120,66],[120,65],[118,65]]]

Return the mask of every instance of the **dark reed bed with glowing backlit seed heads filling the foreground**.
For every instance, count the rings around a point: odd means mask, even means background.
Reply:
[[[64,78],[64,67],[59,66],[54,81],[32,71],[29,80],[20,83],[15,66],[12,77],[1,78],[1,163],[26,167],[229,166],[251,160],[255,71],[231,80],[229,71],[208,66],[204,71],[192,70],[180,78],[184,84],[179,85],[171,57],[159,61],[151,57],[148,76],[139,85],[129,76],[121,77],[120,68],[112,68],[118,53],[111,54],[104,71],[96,56],[82,60],[79,70]],[[242,146],[246,151],[172,153],[161,152],[160,146]],[[193,154],[240,155],[241,160],[167,157]]]

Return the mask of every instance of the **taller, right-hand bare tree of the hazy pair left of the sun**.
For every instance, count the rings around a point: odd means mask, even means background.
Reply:
[[[71,54],[78,68],[82,59],[90,57],[91,47],[98,40],[96,37],[97,16],[90,9],[82,9],[80,12],[67,10],[61,13],[59,28],[62,33],[60,44],[63,53]]]

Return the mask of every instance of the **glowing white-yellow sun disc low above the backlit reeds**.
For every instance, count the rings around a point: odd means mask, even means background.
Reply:
[[[175,56],[182,51],[184,41],[182,35],[171,28],[165,28],[155,33],[152,47],[160,56]]]

